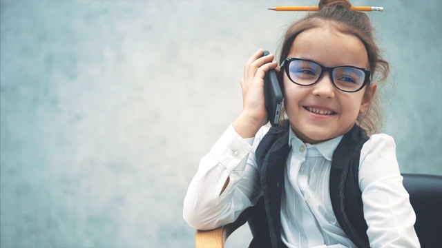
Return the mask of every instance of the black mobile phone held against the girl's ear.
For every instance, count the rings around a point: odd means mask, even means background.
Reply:
[[[268,51],[264,51],[262,56],[269,55]],[[272,126],[279,125],[279,116],[282,105],[282,91],[276,76],[275,70],[269,70],[264,78],[264,99],[267,116]]]

